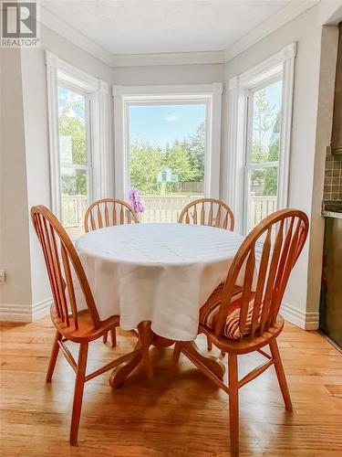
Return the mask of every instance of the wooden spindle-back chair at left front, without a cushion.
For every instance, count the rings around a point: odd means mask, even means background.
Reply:
[[[115,327],[119,325],[119,316],[113,315],[105,321],[99,319],[98,310],[78,253],[68,238],[66,230],[54,214],[47,207],[38,206],[32,207],[31,216],[47,265],[54,299],[51,306],[51,319],[57,329],[47,369],[47,382],[51,381],[57,355],[61,349],[67,362],[76,373],[70,427],[70,444],[76,444],[85,382],[93,377],[98,377],[113,367],[118,367],[119,364],[130,359],[132,353],[121,356],[86,375],[89,342],[98,339],[108,331],[113,332]],[[82,292],[85,301],[83,311],[79,310],[77,303],[76,282],[78,282],[79,290]],[[67,341],[79,345],[78,362],[67,348]]]

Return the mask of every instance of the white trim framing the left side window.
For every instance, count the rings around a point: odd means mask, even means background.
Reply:
[[[50,153],[51,207],[61,218],[60,160],[58,135],[58,83],[88,94],[91,103],[91,163],[89,201],[109,196],[108,84],[73,67],[47,51],[47,111]]]

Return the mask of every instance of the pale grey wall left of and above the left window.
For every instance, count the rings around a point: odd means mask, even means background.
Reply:
[[[5,269],[7,281],[0,286],[0,312],[7,320],[17,320],[19,312],[22,320],[38,318],[47,313],[51,301],[41,248],[29,216],[33,205],[51,207],[46,49],[111,84],[112,69],[47,27],[41,27],[41,48],[2,49],[0,268]],[[109,107],[112,144],[110,94]]]

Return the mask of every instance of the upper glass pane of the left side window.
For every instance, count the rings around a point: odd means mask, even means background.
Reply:
[[[86,100],[83,95],[58,87],[58,128],[60,161],[87,164]]]

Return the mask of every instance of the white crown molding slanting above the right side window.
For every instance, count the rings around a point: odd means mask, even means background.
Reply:
[[[308,9],[316,6],[320,3],[320,0],[308,0],[306,2],[291,2],[282,8],[275,15],[270,16],[262,24],[254,27],[247,35],[235,41],[233,45],[229,46],[224,50],[224,61],[228,62],[232,58],[238,56],[246,49],[251,48],[255,43],[261,41],[264,37],[267,37],[271,33],[275,32],[276,29],[285,26],[287,22],[295,19],[296,16],[300,16],[305,13]]]

